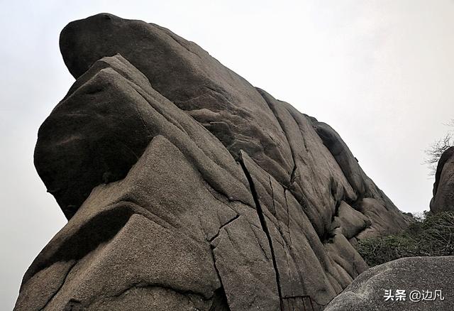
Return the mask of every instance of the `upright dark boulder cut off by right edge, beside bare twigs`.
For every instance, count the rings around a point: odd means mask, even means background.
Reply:
[[[438,160],[431,200],[431,212],[448,211],[454,211],[454,147],[448,148]]]

